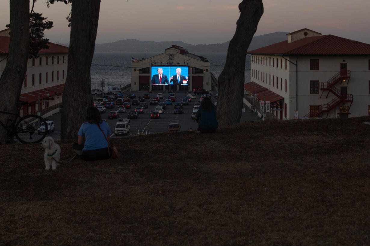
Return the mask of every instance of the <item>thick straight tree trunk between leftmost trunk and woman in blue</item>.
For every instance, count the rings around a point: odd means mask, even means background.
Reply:
[[[77,137],[93,105],[90,67],[94,56],[100,0],[73,0],[68,70],[63,93],[61,139]]]

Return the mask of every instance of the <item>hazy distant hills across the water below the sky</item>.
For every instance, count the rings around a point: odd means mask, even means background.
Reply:
[[[275,44],[287,40],[286,34],[288,32],[272,32],[269,34],[259,35],[252,38],[248,51],[258,49],[264,46]],[[95,44],[95,51],[123,51],[123,52],[164,52],[166,48],[171,47],[173,44],[184,47],[188,52],[199,53],[199,52],[227,52],[229,42],[222,44],[186,44],[182,41],[139,41],[137,39],[124,39],[112,43]],[[69,46],[69,44],[61,44]]]

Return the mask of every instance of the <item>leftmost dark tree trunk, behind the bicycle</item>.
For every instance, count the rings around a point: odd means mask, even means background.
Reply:
[[[10,44],[4,71],[0,77],[0,110],[16,113],[24,76],[27,71],[30,45],[30,0],[10,1]],[[0,114],[6,123],[7,114]],[[13,141],[13,139],[10,139]],[[6,131],[0,127],[0,144],[7,142]]]

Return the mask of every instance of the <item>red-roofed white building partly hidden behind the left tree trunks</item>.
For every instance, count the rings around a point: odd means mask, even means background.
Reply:
[[[0,31],[0,74],[3,72],[9,52],[10,28]],[[28,59],[20,101],[27,101],[21,114],[37,113],[40,98],[40,113],[47,117],[59,111],[67,77],[68,47],[49,43],[40,57]],[[47,96],[46,94],[49,94]]]

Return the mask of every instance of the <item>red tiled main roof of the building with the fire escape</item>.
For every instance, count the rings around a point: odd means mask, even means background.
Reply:
[[[282,41],[248,51],[265,55],[370,55],[370,44],[334,35],[307,37],[288,43]]]

